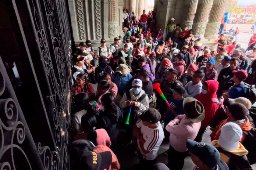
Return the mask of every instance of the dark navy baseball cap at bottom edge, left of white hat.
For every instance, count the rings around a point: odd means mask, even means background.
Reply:
[[[214,168],[220,163],[220,153],[211,144],[188,139],[186,147],[189,152],[197,156],[208,168]]]

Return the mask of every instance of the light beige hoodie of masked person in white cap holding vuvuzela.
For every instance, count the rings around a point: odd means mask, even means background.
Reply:
[[[142,96],[142,94],[145,93],[145,91],[141,89],[141,92],[136,97],[134,96],[134,93],[132,92],[132,89],[129,90],[129,93],[131,95],[131,100],[132,101],[137,101]],[[126,93],[124,93],[124,95],[123,95],[123,97],[120,101],[120,104],[119,104],[121,109],[124,109],[127,106],[126,105],[127,101],[128,101],[128,98],[126,96]],[[141,102],[138,102],[137,107],[139,108],[138,112],[142,113],[142,112],[146,111],[146,109],[149,108],[149,97],[146,96]]]

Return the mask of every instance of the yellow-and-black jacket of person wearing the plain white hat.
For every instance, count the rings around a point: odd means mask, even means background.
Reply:
[[[236,149],[228,151],[218,144],[218,140],[211,141],[211,144],[220,152],[220,159],[223,160],[230,170],[252,170],[247,159],[248,151],[239,142]]]

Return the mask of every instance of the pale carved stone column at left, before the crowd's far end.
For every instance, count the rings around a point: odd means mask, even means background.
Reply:
[[[114,39],[118,37],[118,0],[109,0],[109,15],[108,15],[108,37]]]

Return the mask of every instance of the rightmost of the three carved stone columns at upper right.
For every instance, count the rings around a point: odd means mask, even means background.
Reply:
[[[209,21],[205,30],[206,39],[217,39],[220,28],[221,17],[224,14],[227,0],[214,0],[211,7]]]

